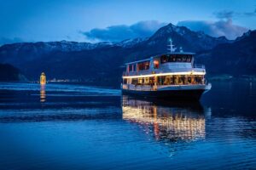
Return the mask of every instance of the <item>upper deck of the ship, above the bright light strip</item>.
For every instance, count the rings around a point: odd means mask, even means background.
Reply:
[[[126,63],[124,76],[137,76],[158,73],[198,72],[205,74],[204,65],[194,64],[194,53],[174,52],[159,54],[149,59]]]

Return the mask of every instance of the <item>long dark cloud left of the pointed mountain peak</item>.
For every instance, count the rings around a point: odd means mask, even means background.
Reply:
[[[95,28],[82,33],[92,41],[120,42],[129,38],[150,37],[160,27],[166,25],[167,23],[162,23],[157,20],[145,20],[131,26],[108,26],[104,29]]]

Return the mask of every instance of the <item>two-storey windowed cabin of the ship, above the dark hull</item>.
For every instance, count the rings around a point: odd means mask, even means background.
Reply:
[[[194,64],[194,53],[173,52],[125,64],[123,89],[205,84],[205,66]]]

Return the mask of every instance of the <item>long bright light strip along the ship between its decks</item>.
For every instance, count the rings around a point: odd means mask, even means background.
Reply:
[[[205,75],[206,72],[198,71],[187,71],[187,72],[167,72],[167,73],[157,73],[150,75],[139,75],[139,76],[125,76],[123,78],[143,78],[143,77],[161,77],[161,76],[172,76],[172,75]]]

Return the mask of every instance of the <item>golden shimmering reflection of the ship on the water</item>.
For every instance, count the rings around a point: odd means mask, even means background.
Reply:
[[[206,118],[211,108],[200,103],[170,103],[160,100],[122,98],[123,119],[137,123],[156,140],[193,141],[206,136]]]

